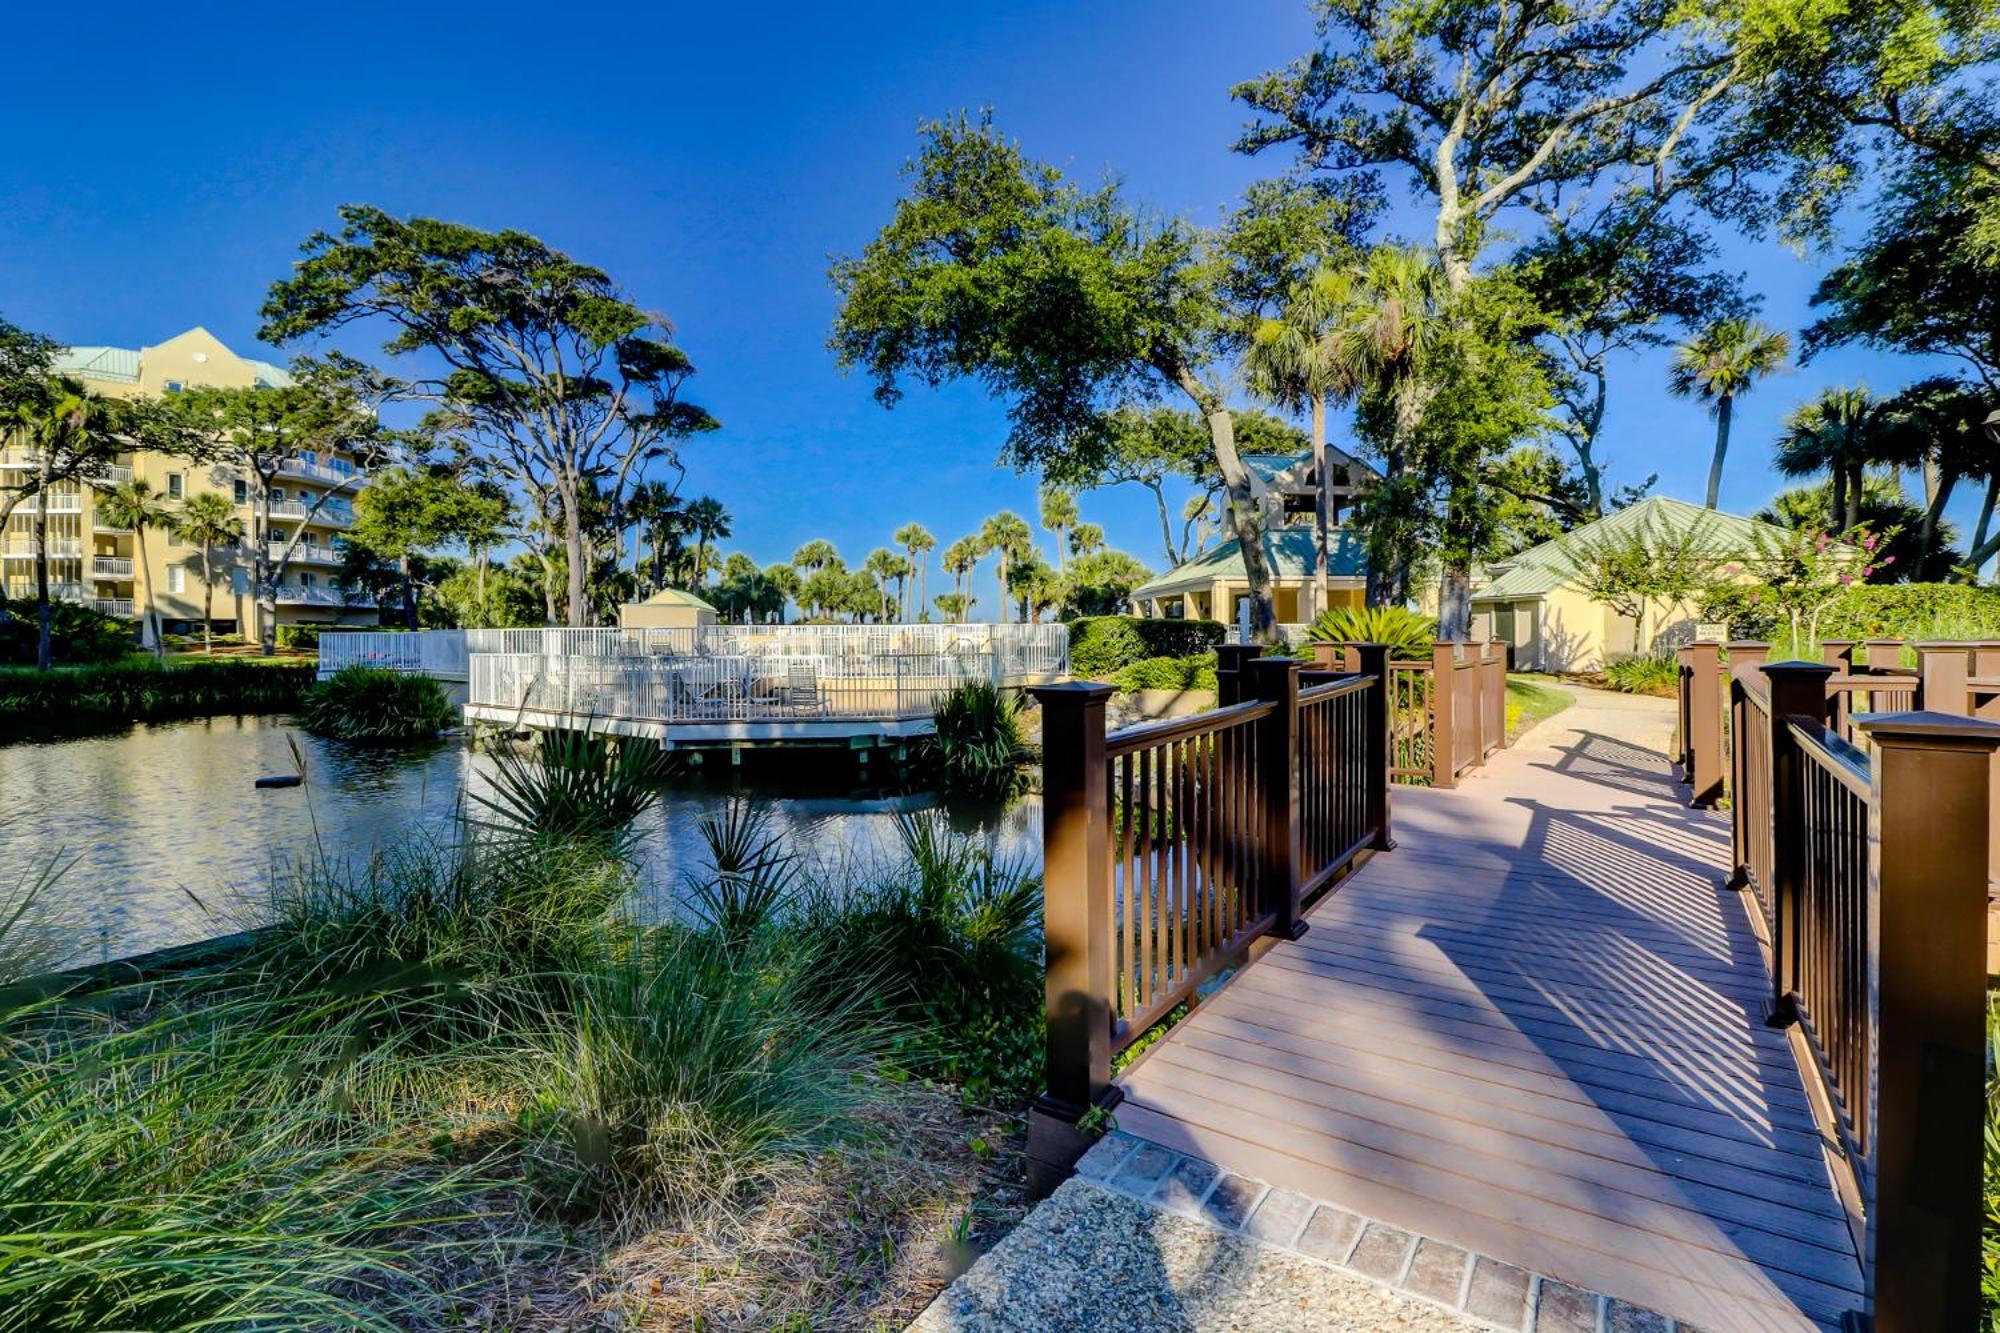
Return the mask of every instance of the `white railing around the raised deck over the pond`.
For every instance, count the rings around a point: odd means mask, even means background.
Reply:
[[[990,652],[894,656],[554,656],[476,652],[468,705],[630,723],[928,719]]]

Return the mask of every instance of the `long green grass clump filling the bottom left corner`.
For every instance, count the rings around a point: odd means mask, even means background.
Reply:
[[[0,1043],[0,1333],[386,1333],[472,1213],[470,1167],[360,1129],[326,1095],[352,1057],[258,1003],[42,1005]]]

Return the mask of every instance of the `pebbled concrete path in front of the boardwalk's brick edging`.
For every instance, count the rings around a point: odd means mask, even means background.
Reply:
[[[1066,1181],[910,1333],[1484,1329],[1296,1253]]]

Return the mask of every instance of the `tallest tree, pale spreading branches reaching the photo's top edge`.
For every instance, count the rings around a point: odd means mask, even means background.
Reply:
[[[1742,76],[1700,4],[1430,6],[1318,0],[1322,44],[1240,84],[1246,152],[1292,146],[1308,168],[1414,184],[1452,294],[1502,228],[1528,230],[1632,194],[1716,188],[1716,122]],[[1444,488],[1458,516],[1472,482]],[[1470,624],[1470,564],[1444,558],[1440,632]]]

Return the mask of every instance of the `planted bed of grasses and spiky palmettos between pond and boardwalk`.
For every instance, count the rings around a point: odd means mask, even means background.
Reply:
[[[820,865],[734,807],[640,923],[656,755],[552,733],[198,971],[24,985],[68,949],[60,865],[12,885],[0,1333],[922,1309],[1024,1207],[1040,885],[936,817]]]

